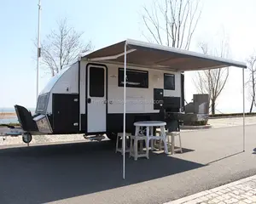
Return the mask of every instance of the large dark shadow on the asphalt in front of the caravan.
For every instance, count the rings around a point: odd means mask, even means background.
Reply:
[[[125,161],[123,180],[122,156],[110,141],[0,150],[0,203],[58,201],[204,166],[164,153]]]

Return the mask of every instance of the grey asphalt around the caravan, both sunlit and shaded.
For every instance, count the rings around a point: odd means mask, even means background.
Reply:
[[[216,119],[215,119],[216,120]],[[256,174],[256,125],[182,133],[183,154],[133,161],[109,141],[0,146],[0,203],[164,203]],[[54,137],[54,136],[52,136]]]

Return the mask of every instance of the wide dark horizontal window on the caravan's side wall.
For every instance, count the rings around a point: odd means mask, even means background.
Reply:
[[[123,68],[119,68],[119,87],[124,87]],[[148,71],[126,69],[126,87],[148,88]]]

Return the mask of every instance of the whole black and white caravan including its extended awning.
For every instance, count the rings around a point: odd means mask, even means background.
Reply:
[[[38,96],[35,115],[15,105],[23,141],[32,134],[106,134],[116,139],[134,122],[172,120],[183,111],[183,71],[246,65],[177,48],[126,40],[96,50],[52,77]],[[124,74],[126,77],[124,80]],[[126,81],[126,82],[124,82]]]

